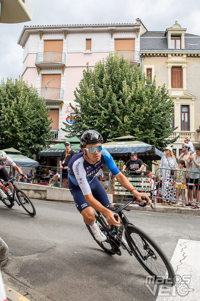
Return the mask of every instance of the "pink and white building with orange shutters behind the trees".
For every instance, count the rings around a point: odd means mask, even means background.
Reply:
[[[18,40],[24,48],[22,76],[50,107],[55,140],[64,139],[62,122],[70,123],[69,103],[86,63],[92,68],[116,50],[131,65],[138,64],[140,34],[145,30],[140,19],[135,24],[24,26]]]

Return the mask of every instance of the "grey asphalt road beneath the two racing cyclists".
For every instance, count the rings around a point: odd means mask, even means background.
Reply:
[[[156,300],[146,271],[133,256],[105,253],[74,204],[33,200],[36,216],[0,204],[0,236],[10,259],[4,283],[30,300]],[[171,259],[179,238],[199,240],[199,217],[130,211],[128,219],[154,238]]]

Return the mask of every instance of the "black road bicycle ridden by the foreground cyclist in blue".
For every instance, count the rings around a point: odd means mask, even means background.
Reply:
[[[143,200],[146,200],[142,196]],[[95,239],[90,226],[86,225],[90,234],[97,242],[97,244],[110,255],[121,255],[121,245],[127,250],[130,256],[135,256],[142,267],[151,275],[155,280],[159,281],[159,284],[166,284],[173,286],[175,284],[175,272],[172,265],[157,243],[148,236],[144,231],[133,225],[128,221],[122,210],[130,211],[133,207],[129,206],[130,203],[135,202],[136,198],[125,204],[114,204],[115,208],[108,208],[115,212],[115,219],[120,217],[120,226],[111,226],[107,224],[101,213],[97,210],[94,211],[95,222],[97,223],[103,234],[106,235],[106,241],[100,242]],[[139,206],[144,207],[146,203],[138,203]],[[117,213],[117,214],[116,214]],[[123,232],[129,248],[121,241]]]

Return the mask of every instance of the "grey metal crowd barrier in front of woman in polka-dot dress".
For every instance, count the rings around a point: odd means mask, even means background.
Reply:
[[[157,196],[153,196],[154,207],[156,203],[195,203],[200,204],[199,186],[200,172],[187,171],[186,169],[157,168],[155,178],[161,175],[154,182]],[[198,197],[199,194],[199,197]],[[194,200],[193,200],[194,199]]]

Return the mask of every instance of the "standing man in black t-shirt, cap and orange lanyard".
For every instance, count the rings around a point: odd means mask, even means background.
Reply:
[[[60,158],[60,169],[62,169],[62,179],[63,179],[63,188],[67,187],[67,178],[68,178],[68,172],[67,167],[69,160],[75,155],[75,152],[70,149],[70,142],[65,142],[64,146],[66,148],[66,151],[64,151],[61,154]]]

